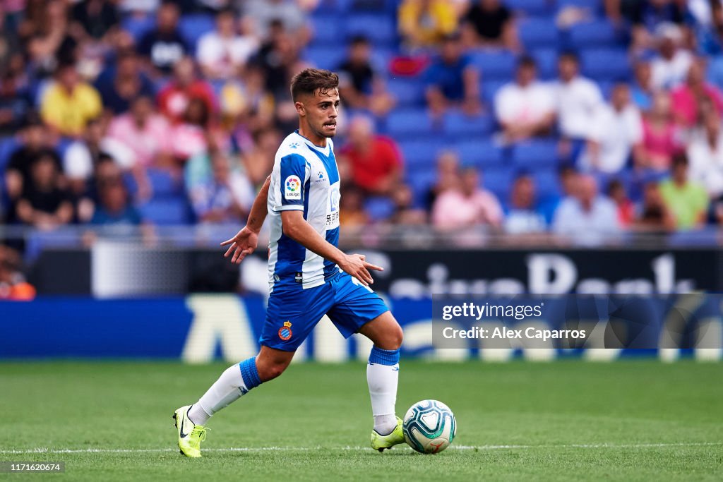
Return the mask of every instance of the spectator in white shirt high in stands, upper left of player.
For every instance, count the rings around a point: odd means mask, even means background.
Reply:
[[[252,30],[251,18],[243,21],[244,30]],[[197,59],[206,77],[228,79],[238,73],[239,67],[259,48],[250,32],[239,35],[236,15],[232,9],[223,9],[216,15],[216,30],[203,35],[198,41]]]

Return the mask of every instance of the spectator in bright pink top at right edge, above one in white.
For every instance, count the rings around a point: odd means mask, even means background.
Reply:
[[[706,82],[705,69],[701,61],[693,62],[688,69],[685,84],[672,91],[675,119],[683,126],[692,127],[698,122],[701,102],[713,103],[719,114],[723,113],[723,95]]]

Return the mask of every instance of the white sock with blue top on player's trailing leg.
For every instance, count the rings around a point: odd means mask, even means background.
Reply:
[[[247,370],[249,382],[244,382],[244,376],[241,374],[244,369]],[[249,369],[253,371],[250,376]],[[193,423],[205,425],[214,413],[239,400],[258,384],[260,384],[260,381],[256,373],[254,358],[231,365],[218,377],[218,380],[211,385],[198,402],[192,405],[188,411],[188,416]]]

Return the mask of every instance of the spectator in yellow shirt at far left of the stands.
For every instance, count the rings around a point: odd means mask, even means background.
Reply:
[[[60,134],[77,137],[102,109],[98,91],[82,82],[75,66],[61,65],[56,70],[55,82],[43,95],[40,116]]]

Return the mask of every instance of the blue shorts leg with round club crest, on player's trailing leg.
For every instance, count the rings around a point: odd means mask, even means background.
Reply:
[[[296,351],[333,304],[328,284],[274,292],[269,297],[260,345],[275,350]]]

